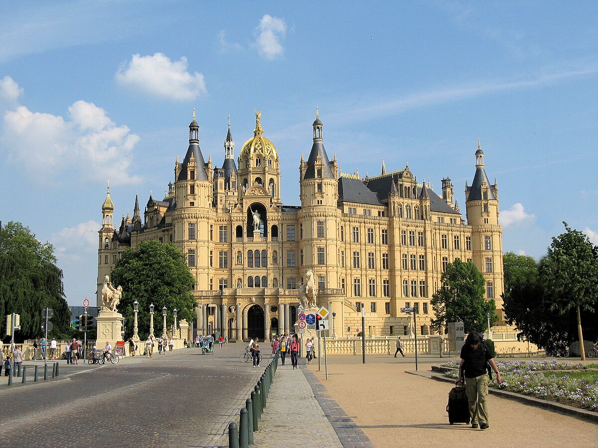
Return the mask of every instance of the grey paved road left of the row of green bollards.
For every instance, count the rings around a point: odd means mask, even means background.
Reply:
[[[0,380],[0,447],[217,446],[263,373],[244,346],[184,349],[8,388]],[[42,372],[42,370],[40,370]],[[15,378],[15,383],[20,378]]]

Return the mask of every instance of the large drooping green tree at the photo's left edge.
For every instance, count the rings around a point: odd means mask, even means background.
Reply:
[[[26,226],[9,222],[0,233],[0,312],[20,314],[17,342],[41,336],[41,311],[54,310],[51,337],[71,335],[71,312],[62,285],[62,270],[57,268],[54,247],[41,243]],[[0,327],[5,334],[5,321]]]

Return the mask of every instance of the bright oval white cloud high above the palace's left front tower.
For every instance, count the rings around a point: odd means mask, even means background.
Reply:
[[[134,54],[130,62],[118,69],[115,79],[124,87],[170,100],[193,100],[206,93],[202,73],[191,75],[184,56],[172,62],[163,53],[154,56]]]

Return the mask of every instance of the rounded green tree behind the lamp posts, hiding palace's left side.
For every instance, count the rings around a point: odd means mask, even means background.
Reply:
[[[133,335],[133,302],[139,303],[138,333],[149,334],[149,305],[154,309],[154,334],[162,331],[162,308],[166,306],[166,327],[177,321],[195,318],[194,279],[185,256],[172,243],[144,241],[138,247],[124,251],[112,269],[111,282],[123,288],[118,311],[126,318],[125,337]]]

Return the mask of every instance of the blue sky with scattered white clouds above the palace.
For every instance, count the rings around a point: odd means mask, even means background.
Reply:
[[[257,109],[299,205],[317,106],[344,173],[408,163],[465,211],[480,139],[504,251],[541,258],[563,221],[598,244],[597,22],[591,1],[2,2],[0,220],[93,302],[107,179],[120,222],[173,180],[194,108],[215,166]]]

